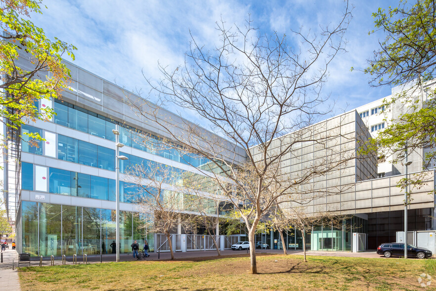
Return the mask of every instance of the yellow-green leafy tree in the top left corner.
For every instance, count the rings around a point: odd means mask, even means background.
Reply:
[[[0,112],[7,125],[18,129],[26,120],[46,119],[51,108],[38,112],[41,98],[59,98],[69,83],[70,71],[62,63],[65,53],[74,59],[74,46],[49,40],[30,20],[31,13],[42,13],[35,0],[0,0]],[[19,58],[26,57],[28,63]],[[35,137],[35,136],[33,136]],[[41,138],[41,137],[39,137]]]

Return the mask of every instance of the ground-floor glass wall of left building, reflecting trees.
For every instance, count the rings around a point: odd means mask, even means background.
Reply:
[[[115,210],[22,201],[21,212],[17,235],[21,251],[31,256],[115,253]],[[143,245],[144,239],[154,250],[154,236],[137,213],[121,211],[120,218],[121,253],[130,253],[131,243]]]

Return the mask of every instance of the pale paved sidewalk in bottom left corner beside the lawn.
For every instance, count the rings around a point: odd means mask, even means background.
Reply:
[[[3,263],[0,263],[0,286],[1,290],[19,291],[20,281],[18,280],[18,272],[16,269],[18,262],[18,254],[15,250],[6,249],[2,252]],[[15,268],[12,271],[12,260]]]

